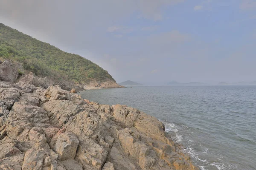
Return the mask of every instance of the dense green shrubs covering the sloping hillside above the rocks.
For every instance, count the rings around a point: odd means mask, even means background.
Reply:
[[[37,76],[88,83],[115,81],[108,71],[88,59],[70,54],[0,23],[0,58],[22,63]]]

